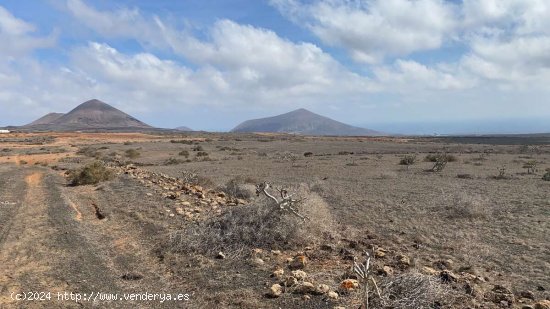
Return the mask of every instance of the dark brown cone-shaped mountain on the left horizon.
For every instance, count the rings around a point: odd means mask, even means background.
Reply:
[[[50,114],[48,114],[50,115]],[[46,115],[43,118],[48,117]],[[41,119],[43,119],[41,118]],[[52,117],[49,117],[52,118]],[[39,120],[41,120],[39,119]],[[37,120],[37,121],[39,121]],[[37,122],[35,121],[35,122]],[[136,130],[151,127],[99,100],[86,101],[49,123],[35,122],[26,128],[39,130]]]

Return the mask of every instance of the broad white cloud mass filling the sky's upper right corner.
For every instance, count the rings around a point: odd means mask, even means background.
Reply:
[[[469,87],[479,79],[492,83],[550,82],[550,3],[545,0],[271,3],[325,44],[341,47],[356,62],[369,64],[381,81],[407,79],[416,71],[416,81],[427,82],[419,84],[425,89]],[[442,47],[465,50],[454,62],[436,64],[450,68],[445,72],[433,64],[427,67],[401,60]],[[434,82],[426,79],[427,75],[439,78]]]

